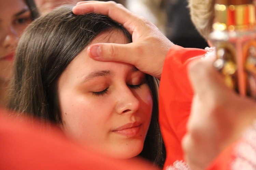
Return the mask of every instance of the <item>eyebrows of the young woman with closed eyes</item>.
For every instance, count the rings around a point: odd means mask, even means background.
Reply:
[[[130,72],[132,72],[132,73],[137,72],[137,71],[139,71],[139,69],[136,67],[133,67],[130,70]],[[93,80],[97,77],[106,77],[106,76],[114,76],[114,73],[110,70],[101,70],[101,71],[92,72],[83,78],[82,83]]]

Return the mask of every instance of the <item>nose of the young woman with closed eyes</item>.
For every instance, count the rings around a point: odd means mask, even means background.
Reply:
[[[122,88],[117,97],[116,111],[118,114],[134,113],[140,107],[140,101],[136,93],[130,88]]]

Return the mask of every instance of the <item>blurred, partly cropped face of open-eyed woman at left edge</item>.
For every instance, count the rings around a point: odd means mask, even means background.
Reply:
[[[23,0],[0,1],[0,80],[11,77],[15,48],[31,21],[30,10]]]

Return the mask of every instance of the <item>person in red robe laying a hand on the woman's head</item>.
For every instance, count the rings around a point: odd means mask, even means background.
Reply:
[[[197,24],[196,28],[205,38],[212,30],[214,3],[213,0],[189,1],[192,20],[194,20],[194,24]],[[225,87],[222,75],[217,73],[210,61],[197,61],[193,66],[190,66],[189,72],[190,78],[193,78],[191,84],[193,84],[195,92],[200,92],[200,94],[195,96],[196,99],[192,103],[192,109],[193,107],[194,109],[191,111],[192,115],[189,118],[189,131],[186,135],[186,142],[183,142],[183,147],[185,146],[184,155],[181,148],[181,139],[186,134],[185,128],[193,99],[193,89],[190,87],[187,77],[187,65],[193,59],[210,57],[209,55],[213,52],[195,48],[182,48],[170,43],[168,47],[166,46],[168,41],[159,33],[156,27],[113,2],[85,1],[79,3],[73,9],[73,12],[77,15],[90,11],[108,14],[124,25],[134,37],[131,44],[124,46],[107,43],[92,44],[89,47],[94,50],[88,51],[91,58],[99,61],[130,63],[136,65],[145,73],[161,78],[159,121],[162,127],[163,139],[166,139],[167,161],[165,167],[171,169],[170,166],[175,160],[183,160],[185,156],[187,160],[190,159],[189,165],[194,164],[193,168],[197,166],[196,169],[205,169],[205,166],[209,164],[209,158],[212,159],[220,148],[223,149],[223,146],[230,144],[230,141],[234,139],[230,137],[239,137],[241,131],[244,130],[245,123],[255,119],[255,101],[239,96]],[[158,38],[156,38],[156,35]],[[131,57],[127,55],[128,53],[130,55],[129,51],[132,51]],[[220,123],[223,121],[225,123]],[[238,147],[231,145],[207,169],[232,169],[231,166],[233,165],[238,165],[237,169],[255,169],[256,164],[253,160],[256,159],[254,159],[255,156],[252,156],[256,155],[255,132],[254,124],[248,130],[248,133],[246,132],[247,134],[242,142],[238,141],[240,143]],[[188,135],[190,140],[188,140]],[[251,139],[248,139],[250,137]],[[172,142],[173,144],[170,145]],[[205,145],[207,147],[204,147]],[[214,152],[209,152],[211,149]],[[234,159],[235,161],[233,161]],[[181,168],[180,166],[184,164],[180,164],[179,161],[175,161],[175,163],[180,169],[187,169],[187,167]],[[198,163],[198,165],[195,163]]]

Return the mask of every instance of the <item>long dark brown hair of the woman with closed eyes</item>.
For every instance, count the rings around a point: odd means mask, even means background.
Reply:
[[[61,6],[39,17],[22,35],[17,49],[9,108],[42,120],[61,123],[57,82],[69,63],[101,32],[119,30],[132,42],[122,25],[100,14],[74,15]],[[158,124],[158,81],[146,75],[153,96],[151,124],[141,156],[162,166],[164,146]]]

